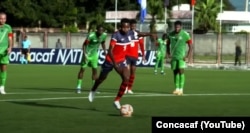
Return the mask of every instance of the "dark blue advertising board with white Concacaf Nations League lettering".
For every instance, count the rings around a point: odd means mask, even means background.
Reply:
[[[99,50],[99,65],[105,60],[104,50]],[[139,53],[141,55],[141,53]],[[137,66],[152,67],[155,65],[155,51],[145,51],[146,62],[139,56]],[[82,60],[81,49],[31,49],[31,64],[51,64],[51,65],[79,65]],[[9,55],[11,64],[20,63],[21,52],[19,48],[13,48]]]

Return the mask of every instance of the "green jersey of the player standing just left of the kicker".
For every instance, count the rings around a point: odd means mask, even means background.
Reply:
[[[97,37],[96,32],[91,32],[88,35],[87,40],[89,41],[89,44],[86,46],[86,54],[88,57],[98,55],[99,46],[102,42],[105,42],[106,37],[106,33],[101,34],[99,37]]]

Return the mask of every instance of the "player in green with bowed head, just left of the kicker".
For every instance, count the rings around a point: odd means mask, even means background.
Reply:
[[[92,68],[92,82],[94,83],[97,79],[97,68],[98,68],[98,49],[100,44],[106,53],[105,40],[107,34],[104,32],[102,26],[97,27],[96,32],[91,32],[87,39],[83,43],[83,59],[81,62],[80,71],[78,72],[78,80],[76,93],[81,93],[82,78],[84,71],[87,67]]]

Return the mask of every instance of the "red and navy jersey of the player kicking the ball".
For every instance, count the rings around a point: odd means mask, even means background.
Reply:
[[[135,40],[133,31],[129,31],[127,34],[122,34],[120,31],[115,32],[110,40],[110,45],[113,46],[113,56],[116,63],[125,60],[127,55],[127,48],[131,44],[131,41]],[[112,62],[109,55],[106,56],[108,62]]]

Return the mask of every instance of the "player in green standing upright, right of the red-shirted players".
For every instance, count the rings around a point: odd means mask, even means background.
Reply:
[[[183,95],[183,87],[185,84],[184,68],[186,61],[191,54],[192,40],[189,34],[182,30],[182,22],[176,21],[175,30],[168,36],[167,54],[171,58],[171,69],[174,72],[175,95]],[[188,44],[188,52],[186,54],[186,45]]]

